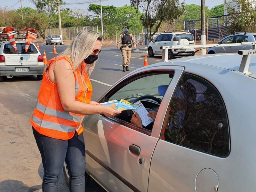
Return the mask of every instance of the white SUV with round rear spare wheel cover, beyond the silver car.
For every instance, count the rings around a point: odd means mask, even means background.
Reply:
[[[187,39],[189,45],[194,45],[194,37],[188,32],[164,32],[160,33],[154,40],[148,44],[148,57],[155,55],[162,55],[163,50],[160,47],[178,45],[181,39]],[[175,56],[189,56],[195,51],[194,48],[180,50],[170,49],[168,52],[168,59],[173,59]]]

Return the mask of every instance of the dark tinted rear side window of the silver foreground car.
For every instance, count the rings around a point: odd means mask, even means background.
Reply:
[[[161,139],[216,156],[229,153],[229,128],[225,105],[208,81],[184,73],[167,111],[168,124]]]

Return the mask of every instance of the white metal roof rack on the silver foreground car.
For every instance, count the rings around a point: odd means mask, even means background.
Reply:
[[[252,49],[238,51],[239,55],[243,55],[239,70],[237,72],[242,73],[243,75],[250,76],[252,72],[249,72],[250,61],[252,55],[256,55],[255,43],[254,42],[241,42],[241,43],[231,43],[231,44],[207,44],[207,45],[174,45],[174,46],[163,46],[160,49],[163,50],[162,62],[168,61],[168,49],[191,49],[191,48],[210,48],[210,47],[229,47],[229,46],[241,46],[241,45],[251,45]]]

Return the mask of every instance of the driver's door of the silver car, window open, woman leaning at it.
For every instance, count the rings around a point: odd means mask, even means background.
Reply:
[[[174,91],[183,70],[184,67],[164,66],[139,71],[116,83],[98,102],[120,98],[132,101],[145,95],[162,99],[166,86]],[[141,102],[147,110],[151,107],[158,113],[159,104],[150,98]],[[160,106],[165,104],[161,102]],[[148,190],[150,160],[159,139],[151,133],[161,130],[163,116],[156,117],[153,129],[152,125],[142,128],[131,124],[128,116],[129,111],[123,111],[116,117],[91,115],[83,121],[86,170],[110,192]]]

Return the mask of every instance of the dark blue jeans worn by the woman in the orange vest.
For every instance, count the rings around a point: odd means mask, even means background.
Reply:
[[[64,161],[69,170],[70,192],[85,191],[85,146],[83,133],[75,133],[69,140],[44,136],[33,128],[44,167],[43,192],[58,192],[58,182]]]

